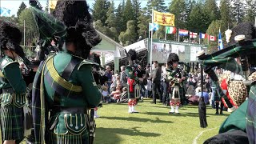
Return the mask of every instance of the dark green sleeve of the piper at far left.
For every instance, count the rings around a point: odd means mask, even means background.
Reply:
[[[10,63],[3,69],[3,72],[16,94],[23,94],[26,92],[26,82],[22,78],[18,62]]]

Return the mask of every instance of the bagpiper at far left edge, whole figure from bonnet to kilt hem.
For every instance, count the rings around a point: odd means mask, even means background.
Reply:
[[[22,33],[13,23],[0,20],[1,132],[3,143],[19,143],[24,138],[23,106],[26,82],[22,78],[18,58],[25,54],[19,43]]]

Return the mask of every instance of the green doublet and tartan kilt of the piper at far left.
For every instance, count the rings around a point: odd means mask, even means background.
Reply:
[[[2,59],[0,71],[2,140],[20,140],[24,137],[23,106],[26,99],[26,82],[19,63],[10,57]]]

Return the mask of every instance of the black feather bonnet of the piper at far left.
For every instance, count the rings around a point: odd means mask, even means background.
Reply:
[[[0,46],[1,50],[12,50],[20,57],[25,57],[23,49],[19,46],[22,41],[22,33],[11,22],[0,20]]]

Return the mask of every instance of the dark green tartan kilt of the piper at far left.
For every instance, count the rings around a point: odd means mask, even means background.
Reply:
[[[15,106],[14,101],[5,106],[2,106],[1,102],[0,112],[2,141],[22,140],[24,138],[23,107]]]

